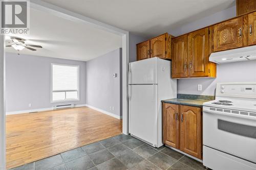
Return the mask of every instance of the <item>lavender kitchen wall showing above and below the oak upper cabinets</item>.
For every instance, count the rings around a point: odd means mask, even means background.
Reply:
[[[170,30],[168,33],[179,36],[214,23],[236,16],[236,6],[206,16],[200,20],[187,23],[183,27]],[[256,82],[256,61],[245,61],[217,65],[217,78],[196,78],[178,80],[178,93],[215,95],[218,82]],[[197,85],[202,84],[202,91]]]

